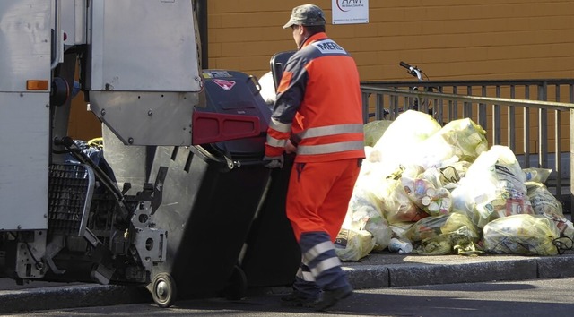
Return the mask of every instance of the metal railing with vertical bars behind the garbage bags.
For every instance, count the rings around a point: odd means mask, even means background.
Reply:
[[[471,118],[486,130],[489,147],[508,146],[523,168],[552,168],[548,188],[570,197],[574,79],[362,82],[361,91],[365,123],[393,120],[407,109],[440,124]]]

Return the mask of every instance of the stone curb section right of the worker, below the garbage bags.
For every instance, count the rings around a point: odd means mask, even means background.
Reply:
[[[394,256],[386,254],[388,263],[350,263],[344,270],[355,289],[574,277],[572,253],[547,257],[408,256],[400,263],[392,260]]]

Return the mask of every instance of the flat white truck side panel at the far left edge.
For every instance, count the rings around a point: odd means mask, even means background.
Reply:
[[[0,229],[48,227],[50,1],[0,2]]]

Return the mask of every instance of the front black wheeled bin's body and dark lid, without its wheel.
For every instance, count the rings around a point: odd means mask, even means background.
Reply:
[[[156,169],[167,166],[158,227],[168,230],[168,272],[183,296],[213,296],[229,286],[270,171],[261,164],[271,110],[248,75],[204,70],[205,108],[225,115],[257,116],[261,134],[194,147],[159,147]],[[239,166],[228,164],[239,161]],[[154,272],[155,273],[155,272]]]

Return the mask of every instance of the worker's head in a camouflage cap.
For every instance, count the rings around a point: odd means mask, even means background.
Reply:
[[[325,13],[321,8],[314,4],[303,4],[293,8],[291,18],[283,29],[291,28],[297,47],[301,47],[309,36],[325,32],[325,24]]]

